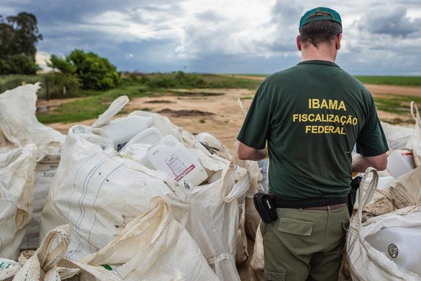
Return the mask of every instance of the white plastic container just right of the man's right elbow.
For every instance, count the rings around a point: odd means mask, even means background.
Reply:
[[[409,173],[415,169],[413,155],[408,150],[395,150],[387,157],[387,171],[393,178]]]

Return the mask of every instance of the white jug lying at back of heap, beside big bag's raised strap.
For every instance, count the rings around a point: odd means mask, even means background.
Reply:
[[[100,128],[92,128],[92,132],[111,139],[114,149],[120,151],[135,135],[154,124],[152,117],[133,115],[117,119]]]

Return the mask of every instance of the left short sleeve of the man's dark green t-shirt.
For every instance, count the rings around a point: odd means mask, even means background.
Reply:
[[[270,129],[271,113],[268,93],[263,82],[256,92],[249,112],[241,127],[237,139],[248,147],[258,150],[266,147],[266,139]]]

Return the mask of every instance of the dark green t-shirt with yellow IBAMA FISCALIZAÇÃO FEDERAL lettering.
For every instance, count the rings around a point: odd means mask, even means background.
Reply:
[[[373,97],[328,61],[305,61],[267,77],[238,135],[269,151],[269,188],[289,200],[349,193],[352,150],[388,151]]]

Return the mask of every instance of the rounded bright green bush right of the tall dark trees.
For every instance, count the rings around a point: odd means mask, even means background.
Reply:
[[[120,75],[108,59],[77,49],[68,59],[76,66],[75,74],[81,80],[82,88],[107,90],[117,86]]]

